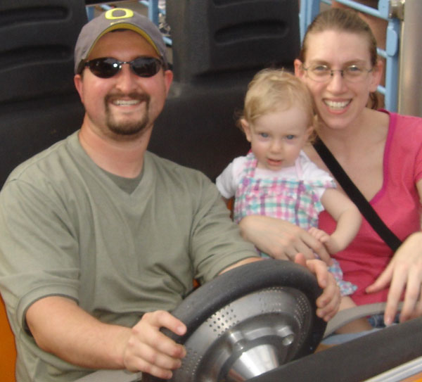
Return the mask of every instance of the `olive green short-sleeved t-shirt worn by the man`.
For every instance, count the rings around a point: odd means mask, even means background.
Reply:
[[[19,382],[87,373],[34,343],[25,326],[34,301],[63,295],[103,322],[133,326],[143,312],[176,307],[194,278],[256,255],[200,172],[147,152],[137,185],[113,178],[76,132],[15,169],[0,193],[0,291]]]

